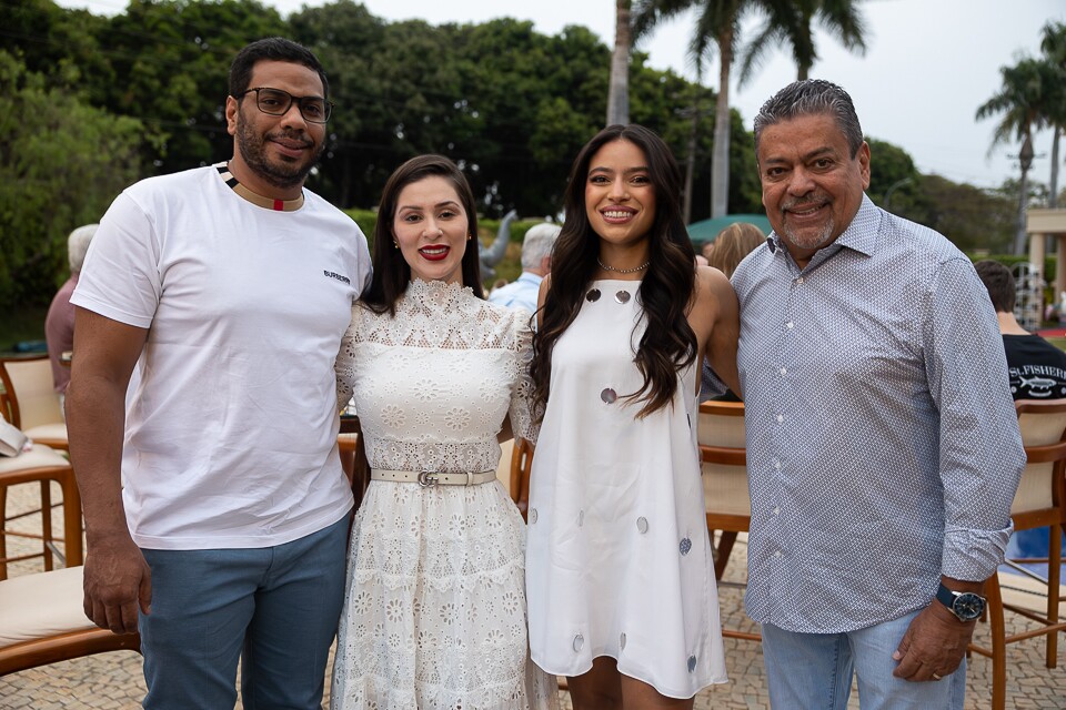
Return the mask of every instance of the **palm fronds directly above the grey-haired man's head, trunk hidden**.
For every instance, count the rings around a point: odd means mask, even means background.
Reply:
[[[861,57],[866,53],[866,20],[857,0],[793,0],[775,3],[773,10],[744,51],[740,77],[742,85],[762,65],[766,53],[783,44],[792,47],[796,79],[807,79],[811,68],[818,60],[813,30],[815,21],[848,51]],[[785,18],[783,13],[787,12],[795,13],[795,19]]]

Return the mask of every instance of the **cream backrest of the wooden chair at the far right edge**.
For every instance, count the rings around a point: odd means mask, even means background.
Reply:
[[[1015,403],[1026,464],[1010,506],[1017,516],[1059,509],[1062,519],[1063,471],[1066,468],[1066,399],[1019,399]],[[1048,525],[1049,523],[1043,523]]]

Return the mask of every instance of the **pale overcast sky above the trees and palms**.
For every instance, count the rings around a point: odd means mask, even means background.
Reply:
[[[325,0],[262,0],[282,16]],[[59,0],[63,7],[87,8],[114,14],[123,0]],[[587,27],[609,47],[614,43],[613,0],[364,0],[376,17],[389,21],[421,19],[431,24],[479,23],[497,17],[531,20],[544,34],[556,34],[569,24]],[[977,121],[977,108],[999,89],[999,68],[1022,57],[1039,55],[1040,29],[1048,21],[1066,22],[1063,0],[865,0],[867,52],[859,57],[843,49],[825,32],[815,41],[821,60],[811,75],[842,85],[855,103],[867,136],[903,148],[923,173],[955,182],[994,187],[1017,178],[1017,143],[992,148],[996,119]],[[687,53],[693,16],[680,16],[643,39],[637,49],[647,64],[695,77]],[[745,29],[752,34],[753,22]],[[329,70],[329,68],[326,68]],[[731,103],[748,128],[758,108],[775,91],[796,78],[787,50],[767,53],[760,72],[747,85],[732,80]],[[704,83],[717,89],[718,68],[712,60]],[[1066,143],[1066,142],[1064,142]],[[1048,182],[1052,133],[1034,141],[1036,159],[1030,179]],[[1066,144],[1060,159],[1066,158]],[[877,169],[877,155],[872,156]],[[1060,171],[1059,189],[1066,182]]]

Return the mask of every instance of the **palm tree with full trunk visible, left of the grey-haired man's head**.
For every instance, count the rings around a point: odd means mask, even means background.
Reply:
[[[730,72],[740,40],[741,19],[753,10],[762,10],[784,22],[795,22],[795,13],[786,11],[788,0],[636,0],[633,34],[642,37],[663,20],[688,10],[696,10],[695,29],[688,54],[703,78],[704,63],[713,48],[718,50],[718,95],[714,111],[714,149],[711,154],[711,216],[726,214],[730,195]],[[794,31],[794,33],[798,34]]]

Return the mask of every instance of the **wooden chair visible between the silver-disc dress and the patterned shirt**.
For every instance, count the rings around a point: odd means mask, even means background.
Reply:
[[[707,506],[711,540],[721,530],[715,550],[714,576],[721,581],[736,536],[752,524],[752,501],[747,493],[747,444],[744,435],[744,404],[704,402],[700,405],[696,439],[703,460],[703,497]],[[761,641],[762,636],[722,629],[722,636]]]

